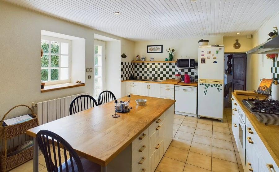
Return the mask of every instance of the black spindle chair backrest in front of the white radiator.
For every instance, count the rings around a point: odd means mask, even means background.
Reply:
[[[70,104],[70,115],[98,106],[97,101],[90,95],[81,95],[73,99]]]

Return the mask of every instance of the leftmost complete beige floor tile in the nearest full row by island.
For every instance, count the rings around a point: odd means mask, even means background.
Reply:
[[[177,161],[186,162],[189,151],[169,146],[166,150],[165,157],[175,159]]]

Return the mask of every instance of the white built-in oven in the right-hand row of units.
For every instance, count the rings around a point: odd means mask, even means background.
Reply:
[[[237,110],[235,116],[235,126],[237,127],[237,134],[234,135],[234,139],[237,144],[241,163],[245,164],[246,116],[241,109]]]

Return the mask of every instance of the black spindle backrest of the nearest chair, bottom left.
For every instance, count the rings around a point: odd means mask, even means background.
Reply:
[[[40,130],[36,139],[44,155],[47,171],[84,171],[78,154],[62,137],[48,130]]]

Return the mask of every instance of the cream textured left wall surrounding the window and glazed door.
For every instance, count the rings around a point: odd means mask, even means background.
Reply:
[[[32,102],[47,101],[81,92],[93,93],[93,79],[88,79],[87,76],[89,73],[93,76],[93,72],[85,72],[85,86],[41,93],[41,30],[84,38],[84,68],[93,68],[95,33],[126,41],[120,37],[29,11],[3,1],[0,1],[0,16],[0,118],[15,105],[31,106]],[[115,54],[115,58],[118,58],[119,62],[115,65],[120,66],[120,52],[125,52],[125,49],[134,51],[134,45],[129,42],[125,47],[118,46],[121,49]],[[120,67],[118,72],[120,73]],[[120,76],[117,79],[120,87]],[[8,118],[28,113],[26,109],[15,109]]]

